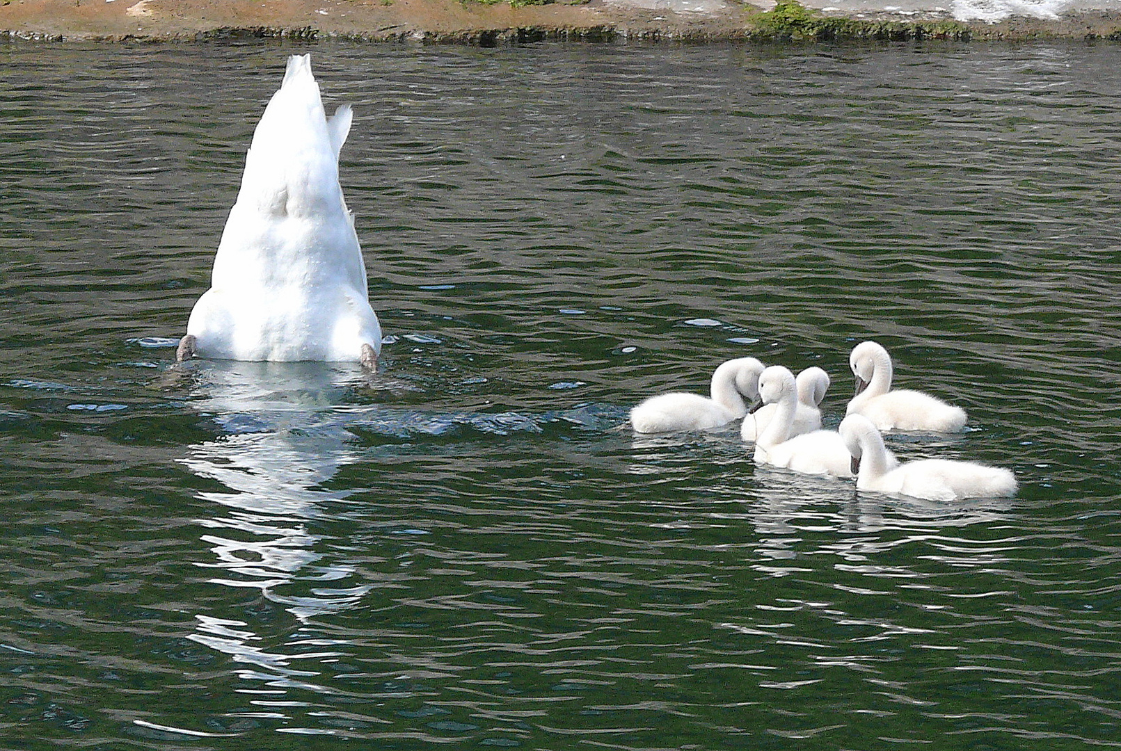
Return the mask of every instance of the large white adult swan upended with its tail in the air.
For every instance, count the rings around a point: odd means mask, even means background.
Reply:
[[[311,55],[288,58],[253,132],[180,360],[376,362],[381,326],[339,184],[352,117],[345,104],[326,117]]]

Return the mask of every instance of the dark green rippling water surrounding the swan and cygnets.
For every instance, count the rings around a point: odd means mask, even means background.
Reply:
[[[382,370],[169,371],[285,56]],[[1121,745],[1121,49],[0,46],[0,739]],[[650,393],[874,337],[932,503]]]

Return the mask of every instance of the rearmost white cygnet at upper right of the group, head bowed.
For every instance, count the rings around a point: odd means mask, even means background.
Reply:
[[[921,391],[891,390],[891,355],[876,342],[853,347],[849,365],[856,378],[856,393],[845,414],[863,415],[880,430],[954,433],[965,427],[961,407]]]

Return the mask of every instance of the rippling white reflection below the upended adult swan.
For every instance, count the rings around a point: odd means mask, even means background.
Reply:
[[[361,368],[234,361],[196,361],[194,368],[191,404],[223,430],[191,446],[183,460],[194,474],[223,486],[198,493],[217,511],[198,520],[207,530],[201,539],[216,558],[198,565],[219,569],[210,582],[258,590],[299,622],[356,605],[371,586],[354,585],[353,567],[325,551],[333,545],[315,530],[332,512],[327,507],[353,492],[327,483],[358,461],[340,406],[364,382]],[[241,620],[205,614],[196,620],[193,641],[265,670],[242,677],[276,685],[318,674],[290,668],[295,656],[253,646],[260,637]],[[299,655],[308,657],[324,653]]]

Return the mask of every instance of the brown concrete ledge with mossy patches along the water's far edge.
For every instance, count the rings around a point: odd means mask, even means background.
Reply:
[[[964,0],[954,0],[962,2]],[[291,37],[498,46],[548,39],[815,41],[833,39],[1121,41],[1119,0],[997,22],[955,20],[930,3],[817,8],[770,0],[591,0],[511,7],[476,0],[0,0],[0,38],[205,40]],[[888,0],[890,2],[890,0]],[[1022,3],[1021,3],[1022,4]],[[769,7],[768,7],[769,6]],[[766,10],[766,12],[763,12]],[[957,9],[961,15],[961,9]]]

